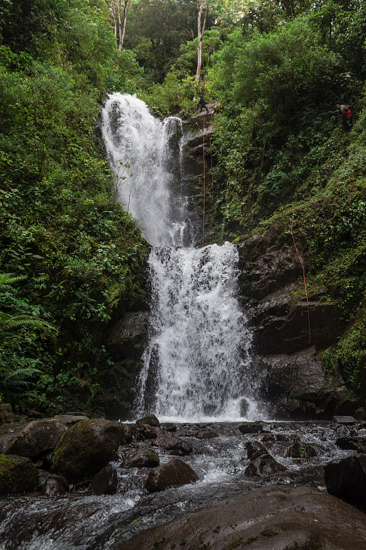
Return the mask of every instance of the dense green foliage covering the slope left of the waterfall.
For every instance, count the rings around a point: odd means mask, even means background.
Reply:
[[[13,40],[2,28],[0,262],[14,277],[0,276],[0,371],[15,408],[95,408],[113,366],[108,322],[141,299],[146,243],[111,201],[95,118],[113,71],[116,87],[142,71],[131,52],[115,52],[102,5],[9,1],[7,21],[28,10],[40,32],[14,20]]]

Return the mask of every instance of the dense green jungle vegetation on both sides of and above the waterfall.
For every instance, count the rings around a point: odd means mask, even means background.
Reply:
[[[2,399],[103,413],[115,384],[104,335],[144,298],[147,243],[113,201],[106,91],[160,115],[216,100],[214,240],[294,217],[310,294],[348,323],[324,364],[365,399],[365,21],[364,0],[0,0]]]

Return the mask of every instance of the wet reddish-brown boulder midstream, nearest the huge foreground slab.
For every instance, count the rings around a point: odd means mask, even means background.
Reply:
[[[181,459],[172,459],[167,464],[158,466],[150,472],[145,482],[145,488],[152,493],[163,491],[169,487],[181,487],[198,481],[198,476],[192,468]]]

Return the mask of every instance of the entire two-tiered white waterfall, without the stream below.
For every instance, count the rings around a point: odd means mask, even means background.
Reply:
[[[117,198],[144,228],[151,314],[137,414],[179,421],[258,418],[251,375],[251,332],[238,301],[234,245],[195,248],[198,219],[183,181],[183,127],[146,104],[111,94],[103,136],[118,181]]]

